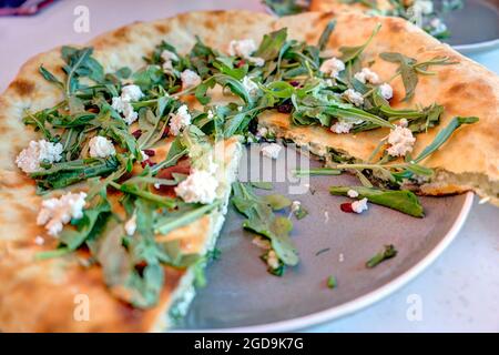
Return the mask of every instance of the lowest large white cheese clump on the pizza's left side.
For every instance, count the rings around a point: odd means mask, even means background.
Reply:
[[[57,236],[63,224],[72,219],[79,220],[83,216],[86,193],[67,193],[61,197],[42,201],[40,213],[37,217],[38,225],[45,225],[50,235]]]

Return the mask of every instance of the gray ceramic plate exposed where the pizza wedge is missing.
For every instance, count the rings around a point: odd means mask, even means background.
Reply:
[[[316,161],[310,164],[319,165]],[[217,244],[221,258],[208,266],[208,284],[198,291],[179,328],[291,331],[358,311],[428,266],[452,241],[472,202],[471,193],[422,197],[426,211],[422,220],[373,204],[357,215],[339,210],[347,197],[327,192],[333,184],[357,184],[356,178],[316,176],[309,183],[309,192],[291,196],[309,211],[305,219],[294,219],[292,235],[301,264],[288,268],[283,277],[269,275],[258,257],[261,250],[252,244],[253,235],[242,231],[243,219],[231,207]],[[274,186],[275,191],[288,194],[287,183]],[[394,244],[398,255],[367,270],[366,261],[385,244]],[[319,251],[323,252],[317,255]],[[336,290],[326,286],[332,274],[338,281]]]

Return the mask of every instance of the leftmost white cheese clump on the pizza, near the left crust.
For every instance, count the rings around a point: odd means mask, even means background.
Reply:
[[[59,162],[62,159],[63,146],[61,143],[52,143],[45,140],[31,141],[16,158],[16,164],[26,173],[40,170],[40,163]]]

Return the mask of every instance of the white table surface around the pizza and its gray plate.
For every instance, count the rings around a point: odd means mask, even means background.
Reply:
[[[90,32],[73,30],[77,6],[90,10]],[[135,20],[153,20],[203,9],[264,11],[259,1],[64,0],[35,17],[0,18],[0,91],[31,55],[52,47],[84,43]],[[472,59],[499,72],[499,50]],[[312,332],[499,332],[499,210],[478,205],[449,248],[408,285],[354,315]],[[421,300],[421,321],[408,321],[407,297]]]

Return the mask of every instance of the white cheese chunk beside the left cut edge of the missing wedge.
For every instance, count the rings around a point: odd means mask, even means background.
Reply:
[[[194,170],[182,181],[175,193],[187,203],[213,203],[216,199],[218,181],[207,171]]]

